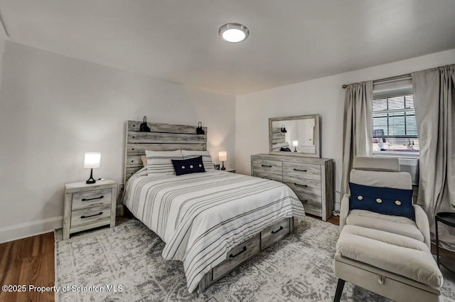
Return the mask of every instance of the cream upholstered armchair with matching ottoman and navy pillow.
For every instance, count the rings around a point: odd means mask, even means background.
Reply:
[[[354,158],[350,195],[341,200],[335,302],[345,281],[397,302],[439,301],[428,218],[412,205],[410,174],[399,171],[397,158]]]

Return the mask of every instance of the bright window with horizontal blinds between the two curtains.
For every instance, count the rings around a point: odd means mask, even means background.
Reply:
[[[419,154],[410,77],[373,83],[373,153]]]

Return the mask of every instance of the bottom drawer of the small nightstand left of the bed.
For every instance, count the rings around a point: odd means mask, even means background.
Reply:
[[[80,227],[82,225],[90,225],[92,223],[106,220],[109,225],[111,219],[111,204],[100,204],[93,207],[86,207],[71,212],[71,228]]]

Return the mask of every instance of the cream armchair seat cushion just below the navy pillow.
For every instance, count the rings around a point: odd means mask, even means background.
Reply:
[[[367,210],[351,210],[346,218],[346,225],[367,227],[424,241],[424,235],[415,222],[407,217],[384,215]]]

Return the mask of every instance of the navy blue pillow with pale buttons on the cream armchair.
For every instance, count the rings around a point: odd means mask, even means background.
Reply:
[[[349,183],[349,188],[349,210],[368,210],[415,221],[412,190],[370,187],[357,183]]]

